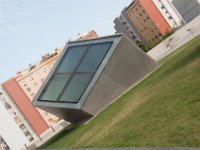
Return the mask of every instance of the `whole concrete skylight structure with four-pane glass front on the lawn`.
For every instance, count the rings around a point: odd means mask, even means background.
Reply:
[[[33,105],[87,121],[145,78],[156,63],[122,34],[68,42]]]

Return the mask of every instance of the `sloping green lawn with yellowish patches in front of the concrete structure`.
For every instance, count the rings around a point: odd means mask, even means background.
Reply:
[[[199,147],[200,36],[87,125],[41,148]]]

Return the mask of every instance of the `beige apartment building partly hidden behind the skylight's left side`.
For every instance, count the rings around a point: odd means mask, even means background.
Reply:
[[[53,65],[57,61],[62,49],[57,48],[52,54],[46,54],[38,64],[29,65],[28,69],[19,71],[16,76],[16,81],[28,96],[30,101],[33,100],[37,91],[40,89],[47,75],[51,71]],[[58,122],[60,119],[56,116],[45,112],[38,108],[39,113],[42,115],[46,123],[51,126]]]

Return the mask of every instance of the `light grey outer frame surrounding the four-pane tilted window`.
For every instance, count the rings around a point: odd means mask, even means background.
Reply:
[[[106,67],[110,57],[113,55],[114,51],[116,50],[116,47],[118,46],[121,39],[124,38],[122,34],[115,34],[111,36],[104,36],[101,38],[95,38],[95,39],[84,39],[84,40],[76,40],[76,41],[69,41],[65,47],[63,48],[62,53],[59,55],[56,63],[54,64],[52,70],[47,75],[47,78],[44,80],[44,83],[41,85],[40,90],[37,92],[36,96],[34,97],[32,104],[38,107],[43,106],[49,106],[52,108],[61,108],[61,109],[80,109],[82,105],[87,100],[87,97],[90,95],[92,89],[94,88],[98,78],[100,77],[101,73],[103,72],[104,68]],[[40,101],[39,97],[41,96],[42,91],[44,90],[44,87],[47,85],[48,81],[50,80],[51,76],[55,72],[55,69],[57,68],[60,60],[62,59],[63,55],[65,54],[67,48],[69,46],[75,46],[75,45],[84,45],[84,44],[92,44],[92,43],[100,43],[100,42],[112,42],[112,45],[103,59],[101,65],[99,66],[99,69],[96,71],[95,75],[93,76],[90,84],[86,88],[85,92],[83,93],[82,97],[80,98],[78,103],[63,103],[63,102],[51,102],[51,101]]]

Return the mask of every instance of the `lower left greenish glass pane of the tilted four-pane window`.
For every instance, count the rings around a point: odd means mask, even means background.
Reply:
[[[40,100],[56,101],[65,84],[69,80],[70,75],[57,74],[49,81],[49,85],[43,90]]]

